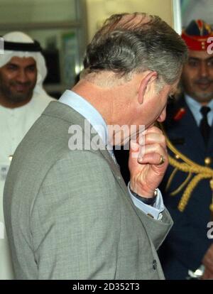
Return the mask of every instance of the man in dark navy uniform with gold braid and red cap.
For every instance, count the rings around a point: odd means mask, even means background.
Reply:
[[[213,176],[212,36],[212,28],[201,20],[182,31],[189,58],[182,94],[168,106],[164,124],[171,157],[161,190],[175,223],[161,258],[168,279],[213,278],[213,244],[207,237]]]

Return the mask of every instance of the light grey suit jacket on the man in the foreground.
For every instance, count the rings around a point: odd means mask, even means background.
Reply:
[[[170,215],[160,222],[133,205],[107,150],[70,151],[72,124],[84,118],[50,102],[13,156],[4,215],[16,278],[164,278],[156,249]]]

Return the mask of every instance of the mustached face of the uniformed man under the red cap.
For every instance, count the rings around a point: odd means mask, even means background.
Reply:
[[[207,104],[213,98],[213,56],[190,50],[182,70],[182,85],[190,97]]]

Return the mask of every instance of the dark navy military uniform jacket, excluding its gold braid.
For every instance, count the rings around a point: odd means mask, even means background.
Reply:
[[[178,151],[199,165],[208,165],[213,168],[213,127],[206,147],[200,129],[183,96],[178,102],[168,106],[168,118],[163,125],[165,134]],[[175,158],[172,151],[168,152]],[[182,162],[179,158],[175,159]],[[185,209],[180,212],[178,205],[190,181],[180,192],[171,196],[170,193],[177,190],[188,175],[178,170],[166,189],[173,170],[174,167],[169,165],[160,186],[165,206],[168,207],[174,221],[173,229],[161,249],[160,256],[166,278],[184,279],[188,275],[188,270],[195,271],[200,267],[202,257],[212,244],[212,240],[207,238],[212,190],[209,179],[200,180],[192,191]],[[192,174],[192,178],[194,176],[195,174]]]

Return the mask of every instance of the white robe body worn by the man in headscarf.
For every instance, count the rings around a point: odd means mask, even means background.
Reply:
[[[3,212],[4,183],[11,162],[9,156],[52,100],[48,95],[33,94],[31,101],[23,107],[9,109],[0,105],[0,280],[13,279]]]

